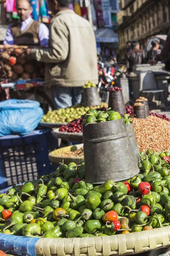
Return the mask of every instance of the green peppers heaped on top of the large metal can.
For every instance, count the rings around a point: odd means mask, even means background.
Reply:
[[[89,125],[92,123],[97,122],[107,122],[107,121],[113,121],[121,119],[121,115],[113,110],[110,110],[111,108],[108,108],[105,111],[97,111],[96,109],[89,109],[86,112],[86,115],[84,116],[84,125]],[[123,116],[125,124],[130,124],[130,116],[128,114],[125,114]]]

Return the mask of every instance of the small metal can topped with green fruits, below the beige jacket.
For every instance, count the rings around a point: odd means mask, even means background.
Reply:
[[[97,87],[86,88],[83,90],[84,107],[101,105]]]

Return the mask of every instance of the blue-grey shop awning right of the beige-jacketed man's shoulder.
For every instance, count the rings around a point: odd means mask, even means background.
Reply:
[[[96,29],[95,39],[99,43],[118,43],[118,34],[113,29]]]

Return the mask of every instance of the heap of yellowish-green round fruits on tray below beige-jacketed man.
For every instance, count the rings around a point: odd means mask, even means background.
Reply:
[[[100,106],[96,107],[84,107],[80,104],[74,105],[71,108],[60,108],[59,110],[48,111],[46,115],[43,116],[41,122],[48,123],[64,123],[64,122],[72,122],[74,119],[81,118],[82,115],[85,115],[86,111],[90,108],[103,108],[108,107],[107,103],[101,103]]]

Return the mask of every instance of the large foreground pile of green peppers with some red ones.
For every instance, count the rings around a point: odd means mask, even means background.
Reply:
[[[170,225],[170,151],[140,152],[125,182],[86,183],[84,163],[0,195],[0,233],[44,238],[110,236]]]

